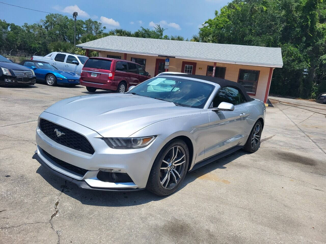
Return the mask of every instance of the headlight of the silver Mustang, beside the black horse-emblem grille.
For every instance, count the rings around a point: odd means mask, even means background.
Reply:
[[[148,146],[156,136],[148,137],[134,137],[134,138],[117,138],[117,137],[104,137],[103,140],[112,148],[120,149],[133,149]]]

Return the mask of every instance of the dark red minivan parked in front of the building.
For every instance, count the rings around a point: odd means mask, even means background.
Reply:
[[[96,89],[125,92],[130,86],[150,78],[138,63],[101,57],[89,58],[82,68],[80,84],[90,92]]]

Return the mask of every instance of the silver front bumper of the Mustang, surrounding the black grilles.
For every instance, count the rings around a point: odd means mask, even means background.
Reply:
[[[154,160],[160,148],[164,145],[164,141],[160,137],[156,137],[145,148],[113,149],[102,140],[101,135],[92,129],[47,112],[43,112],[40,118],[52,121],[55,124],[82,134],[93,146],[95,150],[93,155],[77,151],[53,141],[39,127],[37,128],[37,154],[33,158],[37,159],[42,165],[45,164],[48,168],[52,169],[52,172],[56,171],[59,176],[62,177],[64,175],[63,178],[68,180],[72,179],[71,182],[78,184],[82,188],[127,191],[145,188]],[[74,173],[57,164],[43,150],[70,165],[86,169],[87,172],[84,175]],[[101,181],[97,178],[97,173],[100,168],[122,169],[128,174],[132,182],[114,183]]]

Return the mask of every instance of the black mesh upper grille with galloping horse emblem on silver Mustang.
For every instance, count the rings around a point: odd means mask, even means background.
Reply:
[[[46,119],[40,120],[39,127],[44,134],[61,145],[82,151],[84,153],[93,154],[95,152],[94,148],[86,137],[75,131],[54,124]]]

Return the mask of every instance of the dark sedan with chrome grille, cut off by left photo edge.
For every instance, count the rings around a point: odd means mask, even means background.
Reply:
[[[0,55],[0,85],[34,85],[36,76],[32,69],[16,64]]]

